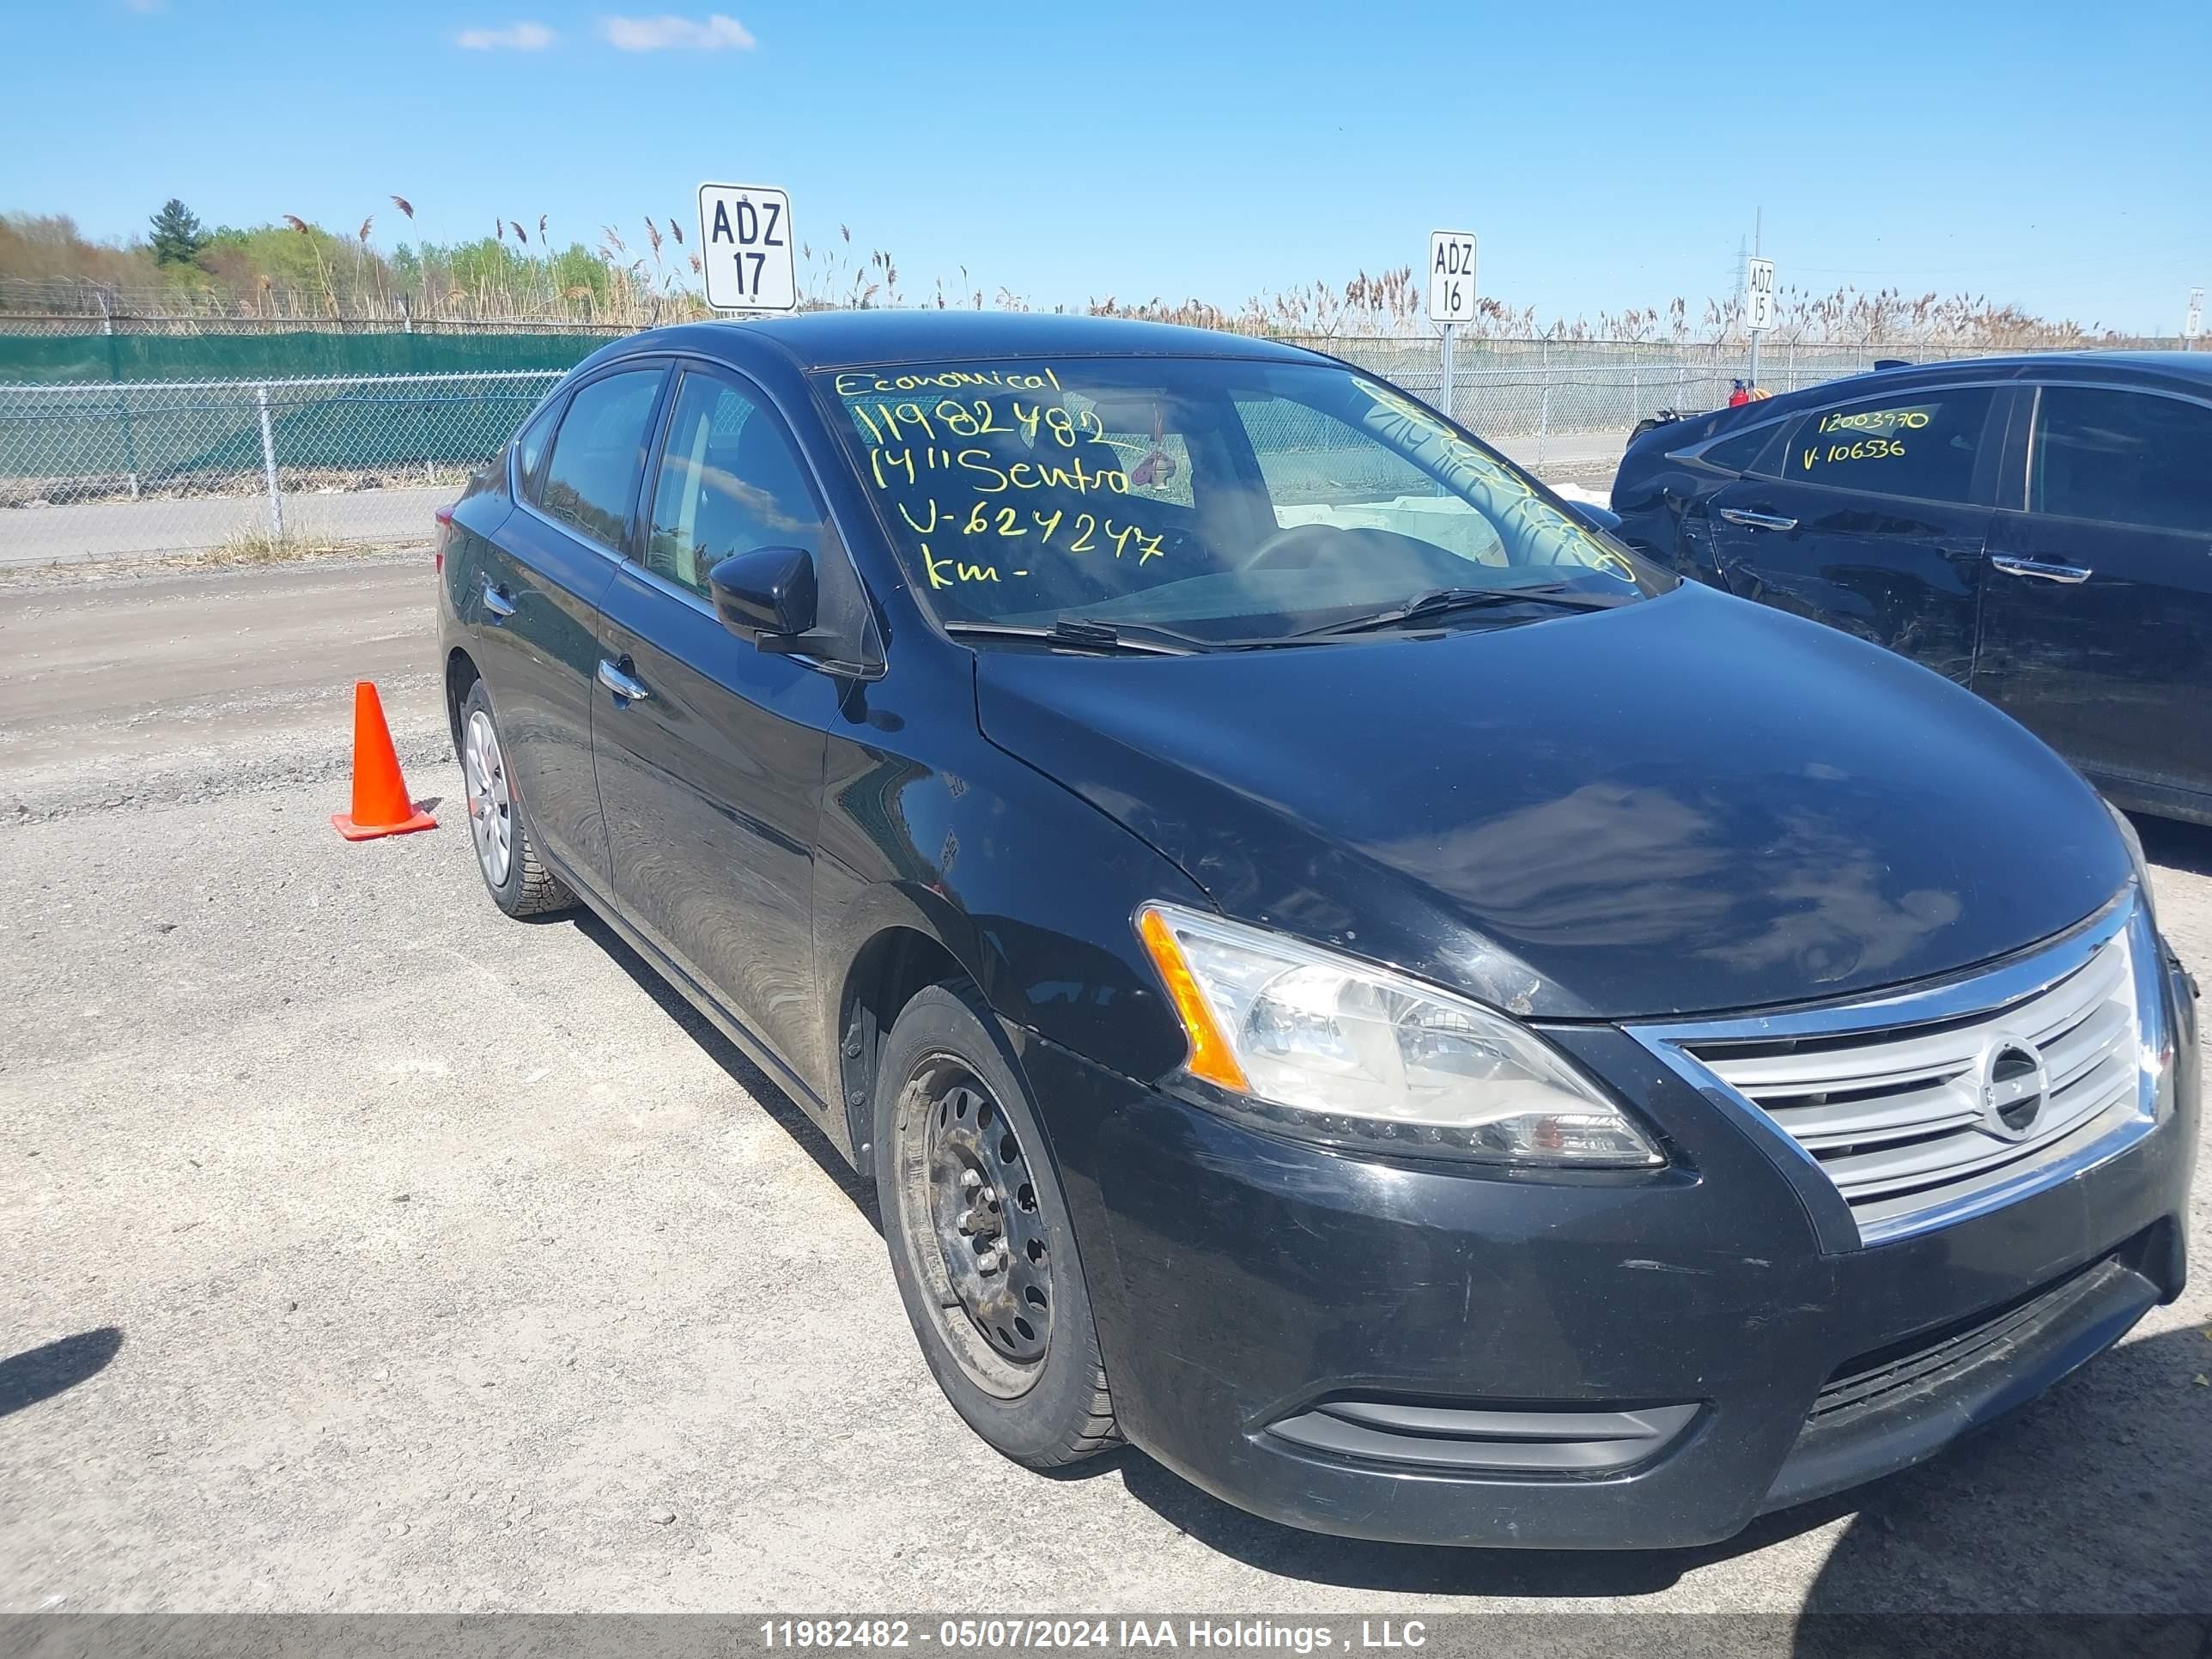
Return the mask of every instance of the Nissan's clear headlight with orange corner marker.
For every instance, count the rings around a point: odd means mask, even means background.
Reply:
[[[1517,1020],[1217,916],[1146,905],[1137,933],[1223,1110],[1332,1146],[1493,1164],[1652,1168],[1628,1115]]]

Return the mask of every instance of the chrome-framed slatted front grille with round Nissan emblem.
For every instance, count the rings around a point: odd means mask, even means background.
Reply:
[[[1863,1243],[2006,1203],[2148,1128],[2135,911],[1940,991],[1637,1035],[1781,1128]]]

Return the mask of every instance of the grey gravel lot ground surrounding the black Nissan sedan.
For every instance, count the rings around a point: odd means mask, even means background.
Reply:
[[[799,1110],[606,929],[491,909],[427,646],[420,557],[0,591],[0,1608],[2212,1610],[2203,1276],[1705,1551],[1002,1462]],[[332,834],[356,672],[440,830]],[[2150,843],[2212,962],[2212,834]]]

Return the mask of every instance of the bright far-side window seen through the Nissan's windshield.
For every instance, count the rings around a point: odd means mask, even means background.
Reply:
[[[1504,564],[1498,526],[1402,453],[1285,398],[1237,400],[1274,522],[1413,535],[1478,564]]]

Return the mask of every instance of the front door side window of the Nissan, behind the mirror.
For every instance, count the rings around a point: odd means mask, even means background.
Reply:
[[[821,540],[821,507],[776,420],[726,380],[686,374],[653,489],[646,568],[703,595],[732,553],[803,546],[818,557]]]

